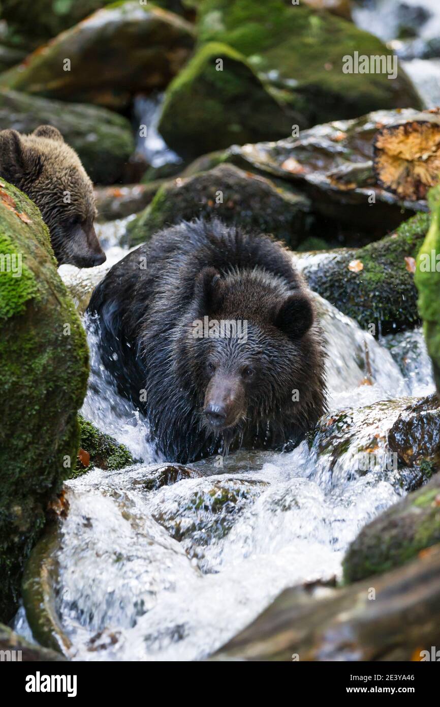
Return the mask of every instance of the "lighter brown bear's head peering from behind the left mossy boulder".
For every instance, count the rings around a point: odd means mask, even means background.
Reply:
[[[1,130],[0,175],[39,207],[59,265],[105,262],[93,228],[92,182],[57,128],[41,125],[30,135]]]

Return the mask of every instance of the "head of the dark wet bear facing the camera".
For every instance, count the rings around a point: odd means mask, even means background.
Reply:
[[[267,429],[271,443],[284,443],[316,422],[325,407],[323,356],[311,335],[307,291],[260,269],[206,267],[191,315],[186,361],[194,370],[187,375],[201,381],[198,409],[208,433],[231,440],[251,426],[252,434]]]

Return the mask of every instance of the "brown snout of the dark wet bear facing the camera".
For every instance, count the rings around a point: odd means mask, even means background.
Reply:
[[[244,390],[232,376],[216,374],[206,389],[203,414],[208,426],[217,431],[232,427],[243,415]]]

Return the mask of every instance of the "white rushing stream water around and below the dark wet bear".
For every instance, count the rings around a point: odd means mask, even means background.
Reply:
[[[114,258],[125,255],[110,244]],[[398,500],[400,472],[360,476],[353,452],[374,433],[380,442],[398,415],[394,404],[362,406],[433,390],[422,334],[386,337],[381,346],[326,300],[316,296],[316,305],[332,414],[353,409],[350,445],[333,471],[318,442],[311,450],[302,443],[287,454],[242,450],[204,460],[191,464],[194,478],[148,490],[157,469],[148,424],[114,391],[90,331],[82,412],[143,463],[66,484],[57,594],[73,659],[205,658],[283,588],[340,576],[362,525]]]

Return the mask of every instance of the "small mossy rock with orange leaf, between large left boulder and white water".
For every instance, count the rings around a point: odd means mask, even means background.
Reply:
[[[124,467],[133,464],[131,452],[125,445],[119,444],[113,437],[98,430],[95,425],[85,420],[81,415],[78,415],[78,422],[81,431],[81,453],[78,455],[76,467],[69,479],[81,477],[95,467],[110,472],[114,469],[124,469]],[[86,452],[86,455],[83,452]],[[87,455],[88,459],[86,459]],[[84,463],[86,460],[87,464]]]

